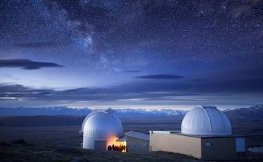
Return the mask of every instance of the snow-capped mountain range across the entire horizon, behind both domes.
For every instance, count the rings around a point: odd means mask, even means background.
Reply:
[[[76,109],[70,107],[0,107],[0,116],[86,116],[92,109]],[[142,117],[142,116],[184,116],[187,110],[178,109],[114,109],[116,116]],[[263,105],[255,105],[249,108],[225,109],[223,111],[229,116],[261,116]]]

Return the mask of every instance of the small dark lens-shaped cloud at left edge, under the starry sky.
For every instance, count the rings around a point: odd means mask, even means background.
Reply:
[[[53,62],[34,62],[29,59],[0,59],[0,68],[1,67],[18,67],[25,70],[35,70],[39,68],[57,68],[62,66]]]

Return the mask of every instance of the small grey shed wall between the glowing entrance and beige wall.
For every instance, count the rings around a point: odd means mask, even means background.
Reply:
[[[127,152],[149,152],[149,141],[126,136]]]

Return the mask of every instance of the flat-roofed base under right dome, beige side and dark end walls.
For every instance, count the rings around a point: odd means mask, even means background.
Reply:
[[[212,144],[206,146],[206,143]],[[246,146],[247,148],[247,146]],[[237,157],[236,137],[200,138],[169,133],[150,133],[150,151],[188,154],[203,160],[245,159],[246,152]]]

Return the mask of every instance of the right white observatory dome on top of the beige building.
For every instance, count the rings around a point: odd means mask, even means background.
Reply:
[[[186,113],[181,122],[181,133],[186,135],[231,135],[231,124],[216,107],[195,107]]]

